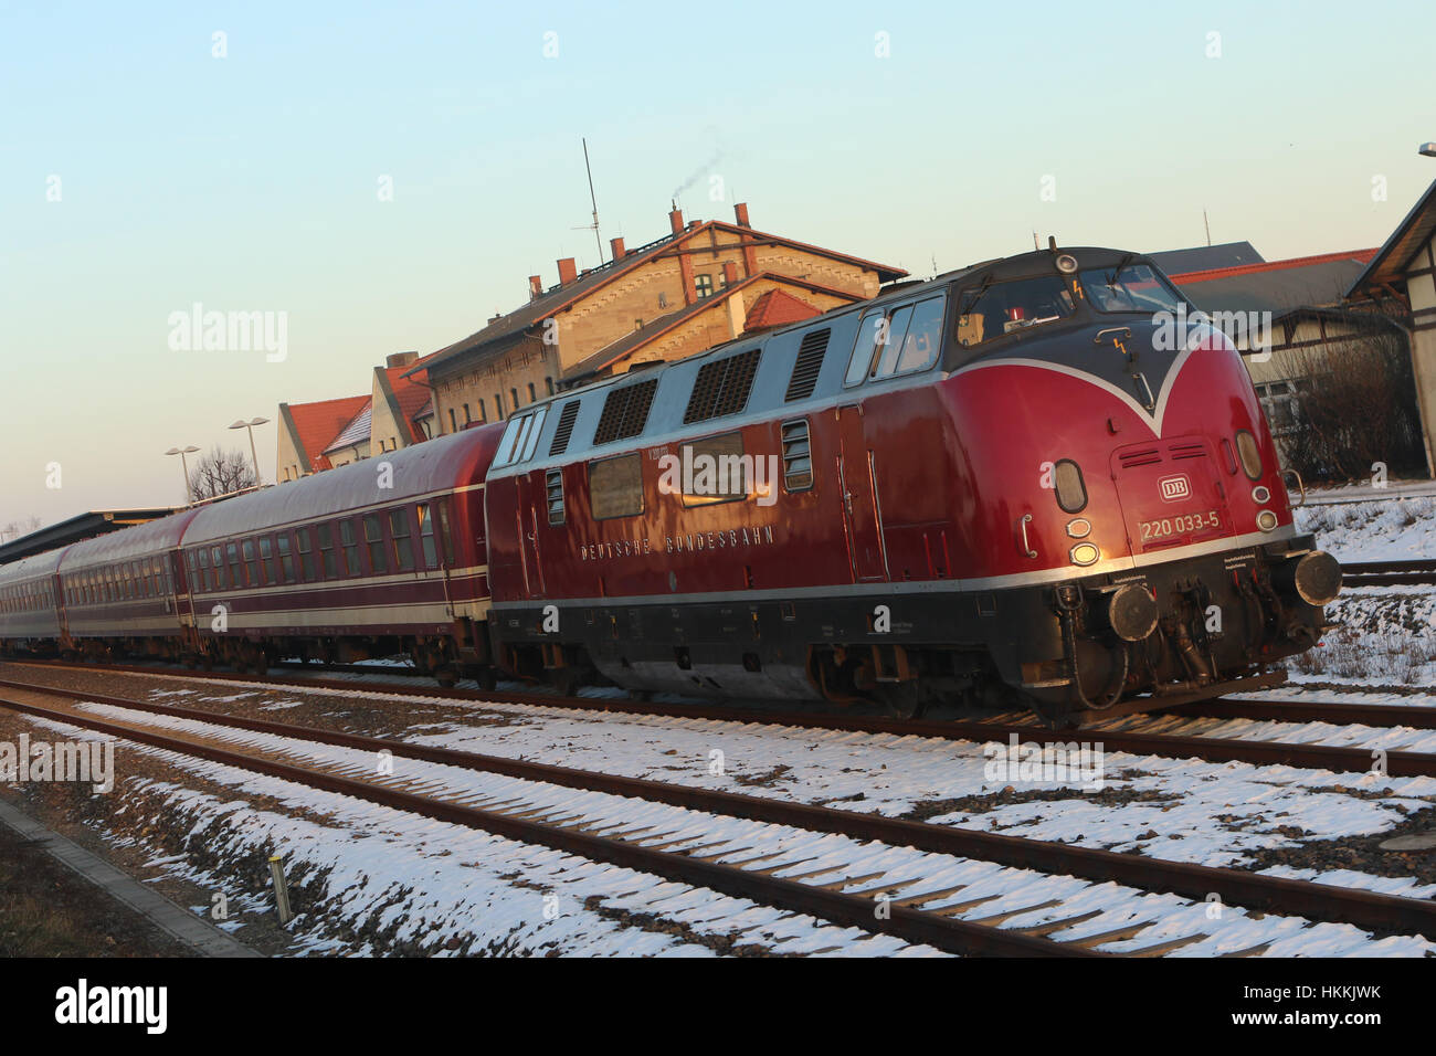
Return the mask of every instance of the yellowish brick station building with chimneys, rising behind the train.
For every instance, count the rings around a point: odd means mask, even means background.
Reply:
[[[559,260],[551,286],[528,276],[524,305],[431,355],[389,356],[368,395],[280,404],[276,480],[503,421],[563,388],[866,300],[908,274],[758,231],[745,203],[732,223],[685,223],[673,208],[668,224],[636,249],[612,238],[600,267]]]

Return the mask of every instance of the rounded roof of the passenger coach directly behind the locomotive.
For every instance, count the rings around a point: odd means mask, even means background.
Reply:
[[[184,545],[207,543],[280,524],[330,517],[370,504],[404,501],[480,484],[498,435],[497,424],[451,432],[207,506],[185,532]],[[392,467],[392,487],[381,487],[385,463]]]

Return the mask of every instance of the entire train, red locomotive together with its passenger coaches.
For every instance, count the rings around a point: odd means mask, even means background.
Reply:
[[[1073,724],[1269,684],[1340,588],[1232,341],[1051,244],[3,566],[0,649]]]

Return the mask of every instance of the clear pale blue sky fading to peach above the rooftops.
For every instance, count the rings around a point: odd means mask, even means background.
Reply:
[[[1203,207],[1268,260],[1377,246],[1436,178],[1433,30],[1429,0],[0,0],[0,524],[180,503],[167,448],[597,263],[580,136],[605,244],[678,191],[919,276],[1034,228],[1196,246]],[[286,313],[287,356],[172,349],[194,303]]]

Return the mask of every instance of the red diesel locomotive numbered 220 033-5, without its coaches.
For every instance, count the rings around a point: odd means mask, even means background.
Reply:
[[[1269,682],[1341,572],[1189,313],[1054,247],[527,408],[487,477],[498,662],[1053,721]]]

